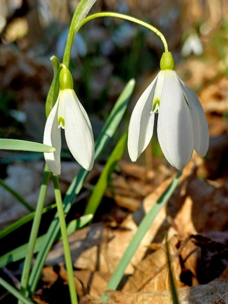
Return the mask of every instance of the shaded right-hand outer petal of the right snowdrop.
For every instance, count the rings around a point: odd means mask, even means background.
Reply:
[[[180,84],[193,120],[194,149],[199,155],[205,156],[209,146],[209,130],[203,107],[194,92],[182,80]]]

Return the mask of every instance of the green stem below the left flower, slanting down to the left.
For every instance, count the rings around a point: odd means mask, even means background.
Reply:
[[[40,193],[39,193],[39,198],[38,198],[38,202],[37,202],[37,206],[36,206],[36,212],[35,212],[35,216],[34,216],[34,220],[33,220],[33,226],[32,226],[32,230],[30,233],[28,253],[26,255],[24,268],[22,271],[22,277],[21,277],[21,294],[22,295],[26,294],[27,287],[28,287],[29,275],[30,275],[30,270],[31,270],[32,260],[33,260],[33,253],[34,253],[36,238],[38,235],[40,220],[41,220],[42,213],[43,213],[44,202],[45,202],[47,189],[48,189],[49,177],[50,177],[50,170],[49,170],[48,166],[45,165],[43,181],[42,181],[42,185],[40,187]],[[23,304],[23,301],[19,300],[18,304]]]

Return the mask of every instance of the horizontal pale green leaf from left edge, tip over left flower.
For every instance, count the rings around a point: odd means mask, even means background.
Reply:
[[[0,150],[55,152],[55,148],[28,140],[0,138]]]

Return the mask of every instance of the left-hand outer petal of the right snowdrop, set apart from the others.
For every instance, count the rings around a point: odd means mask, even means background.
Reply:
[[[158,75],[137,101],[129,123],[128,152],[132,162],[147,148],[153,135],[154,114],[151,114]]]

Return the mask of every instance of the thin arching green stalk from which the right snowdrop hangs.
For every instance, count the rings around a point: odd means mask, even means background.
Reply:
[[[95,18],[99,18],[99,17],[117,17],[117,18],[121,18],[121,19],[125,19],[137,24],[140,24],[144,27],[146,27],[147,29],[149,29],[150,31],[154,32],[156,35],[159,36],[159,38],[162,40],[163,45],[164,45],[164,51],[167,52],[168,51],[168,44],[166,42],[166,39],[164,37],[164,35],[154,26],[148,24],[147,22],[144,22],[140,19],[137,19],[135,17],[131,17],[129,15],[125,15],[125,14],[120,14],[120,13],[115,13],[115,12],[100,12],[100,13],[96,13],[96,14],[92,14],[86,18],[84,18],[84,20],[81,22],[80,24],[80,28],[82,27],[82,25],[84,25],[86,22],[95,19]],[[77,29],[79,30],[79,29]]]

